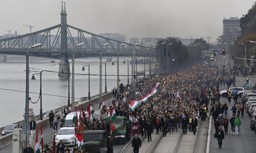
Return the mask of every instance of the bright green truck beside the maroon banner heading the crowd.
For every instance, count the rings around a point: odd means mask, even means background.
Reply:
[[[115,140],[122,140],[123,144],[125,144],[125,140],[131,140],[131,125],[125,116],[116,116],[113,125],[115,127]]]

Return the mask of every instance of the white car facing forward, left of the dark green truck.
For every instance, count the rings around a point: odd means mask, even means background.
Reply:
[[[63,144],[76,144],[75,127],[61,127],[55,136],[56,144],[60,140],[62,140]]]

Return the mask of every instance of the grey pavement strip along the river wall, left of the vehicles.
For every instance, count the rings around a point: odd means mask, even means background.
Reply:
[[[107,107],[112,105],[111,102],[112,102],[113,98],[114,97],[105,100],[105,103],[106,103]],[[98,110],[98,105],[96,105],[94,109]],[[58,124],[58,129],[60,129],[60,123]],[[49,134],[51,134],[51,136]],[[53,128],[50,128],[49,126],[43,128],[43,136],[44,137],[47,136],[47,142],[49,142],[49,140],[53,140],[53,134],[54,134]],[[41,136],[40,127],[38,127],[38,138],[40,138],[40,136]],[[34,137],[33,144],[31,144],[33,146],[33,148],[34,148],[34,145],[35,145],[35,140],[36,140],[36,136]],[[46,140],[44,140],[44,142],[46,142]],[[12,153],[12,143],[8,144],[7,146],[4,146],[0,150],[0,153]]]

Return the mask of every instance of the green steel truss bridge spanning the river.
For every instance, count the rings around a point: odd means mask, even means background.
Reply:
[[[79,43],[84,43],[85,45],[76,48],[75,58],[99,57],[100,47],[105,43],[109,43],[109,46],[102,48],[102,56],[116,56],[118,46],[124,43],[125,46],[120,48],[122,49],[120,56],[131,56],[131,50],[134,44],[96,35],[67,24],[65,2],[64,9],[62,2],[60,15],[61,23],[56,26],[25,35],[0,39],[0,54],[26,55],[27,49],[30,46],[40,43],[42,46],[31,50],[29,56],[65,59],[65,61],[68,61],[68,59],[72,58],[73,46]],[[73,37],[72,34],[74,33],[77,34],[77,37]],[[138,45],[138,48],[140,48],[140,52],[137,52],[136,55],[148,56],[148,54],[142,53],[148,52],[147,47]]]

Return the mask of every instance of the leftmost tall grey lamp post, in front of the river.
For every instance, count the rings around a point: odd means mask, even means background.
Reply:
[[[27,133],[29,133],[29,50],[32,48],[40,47],[42,44],[35,44],[31,46],[27,50],[27,55],[26,55],[26,104],[25,104],[25,146],[28,144],[28,136]]]

